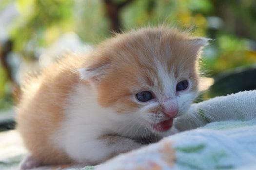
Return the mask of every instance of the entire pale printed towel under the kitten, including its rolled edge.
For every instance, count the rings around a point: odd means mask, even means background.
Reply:
[[[189,114],[177,118],[173,132],[180,133],[96,167],[37,170],[256,170],[256,90],[193,104]],[[10,133],[17,137],[15,131],[0,135],[1,152],[9,150],[0,154],[0,170],[17,169],[24,154],[19,142],[8,141]]]

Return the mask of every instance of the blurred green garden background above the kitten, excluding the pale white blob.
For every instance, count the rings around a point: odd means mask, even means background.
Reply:
[[[0,0],[0,110],[16,102],[19,67],[63,34],[94,45],[112,31],[159,24],[213,39],[202,66],[215,84],[202,99],[256,88],[256,0]]]

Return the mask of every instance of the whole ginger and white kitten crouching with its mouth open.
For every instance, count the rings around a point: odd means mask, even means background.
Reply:
[[[118,34],[53,63],[23,89],[17,129],[39,165],[95,165],[170,135],[197,95],[206,38],[167,27]]]

